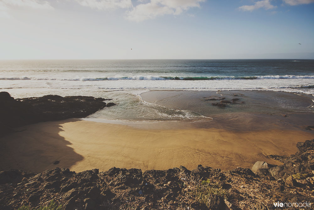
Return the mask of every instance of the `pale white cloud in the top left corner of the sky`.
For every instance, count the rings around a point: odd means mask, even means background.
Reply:
[[[14,7],[53,9],[47,1],[43,0],[0,0],[0,17],[10,18],[9,11]]]

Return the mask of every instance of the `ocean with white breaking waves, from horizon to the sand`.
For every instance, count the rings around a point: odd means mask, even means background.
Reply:
[[[107,120],[211,119],[213,114],[243,110],[273,113],[269,107],[275,106],[280,111],[312,112],[314,60],[3,60],[0,89],[15,98],[47,94],[113,98],[117,106],[91,116]],[[142,100],[141,94],[150,90],[200,91],[191,107],[202,104],[203,108],[184,110],[173,107],[173,101],[167,105],[165,99],[162,103]],[[269,95],[263,95],[264,102],[255,99],[230,109],[199,103],[210,95],[204,91],[226,90],[291,92],[301,94],[308,102],[300,100],[302,104],[298,104],[287,96],[281,102],[276,99],[280,103],[267,104]],[[196,92],[186,93],[181,103]],[[254,98],[252,92],[249,95]],[[264,104],[262,109],[258,108],[260,103]],[[195,111],[204,107],[207,111]]]

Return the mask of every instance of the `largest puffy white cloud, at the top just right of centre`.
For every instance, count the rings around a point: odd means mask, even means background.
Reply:
[[[165,14],[178,15],[192,7],[200,7],[205,0],[151,0],[149,3],[138,4],[127,12],[128,20],[140,22],[154,19]]]

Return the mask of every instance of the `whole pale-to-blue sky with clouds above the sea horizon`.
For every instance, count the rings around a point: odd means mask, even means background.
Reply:
[[[314,0],[0,0],[0,60],[314,59],[313,37]]]

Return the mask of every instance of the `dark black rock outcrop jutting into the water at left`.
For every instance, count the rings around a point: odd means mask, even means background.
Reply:
[[[84,117],[115,105],[106,103],[107,100],[111,99],[58,95],[14,99],[8,92],[0,92],[0,136],[19,126]]]

